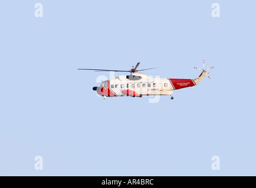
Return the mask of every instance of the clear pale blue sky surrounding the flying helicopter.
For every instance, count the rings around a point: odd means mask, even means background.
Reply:
[[[255,5],[1,1],[0,176],[255,176]],[[156,103],[77,70],[194,79],[204,60],[211,79]]]

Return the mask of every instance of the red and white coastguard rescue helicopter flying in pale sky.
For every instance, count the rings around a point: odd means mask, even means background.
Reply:
[[[175,78],[149,78],[145,73],[139,71],[149,70],[141,69],[137,70],[140,62],[130,70],[106,70],[106,69],[78,69],[78,70],[96,70],[97,72],[113,71],[113,72],[130,72],[130,75],[116,76],[112,80],[105,80],[100,86],[93,87],[100,96],[104,99],[113,96],[152,96],[152,95],[170,95],[170,99],[173,99],[172,93],[176,89],[188,88],[198,85],[202,79],[209,75],[207,70],[214,67],[205,69],[205,61],[203,62],[203,69],[201,75],[195,79],[175,79]],[[156,69],[156,68],[150,68]]]

